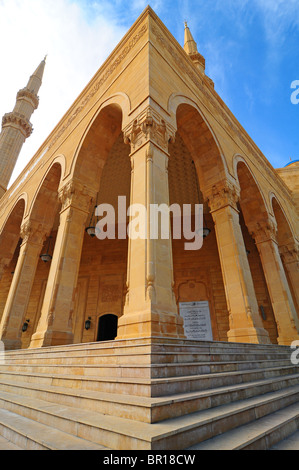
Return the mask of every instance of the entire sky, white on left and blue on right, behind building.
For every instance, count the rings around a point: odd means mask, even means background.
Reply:
[[[34,134],[14,178],[147,5],[132,0],[0,0],[0,114],[48,54]],[[206,73],[275,167],[299,159],[299,0],[153,0],[183,45],[184,21],[206,59]],[[9,40],[8,40],[9,38]],[[22,45],[22,47],[20,46]]]

